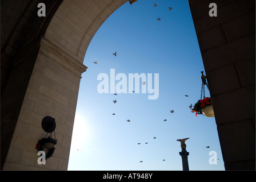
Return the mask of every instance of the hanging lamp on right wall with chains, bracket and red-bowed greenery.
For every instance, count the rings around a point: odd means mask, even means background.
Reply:
[[[203,71],[201,72],[201,80],[202,80],[202,89],[201,89],[201,97],[197,103],[194,104],[192,110],[193,113],[197,116],[197,114],[203,114],[206,117],[214,117],[213,104],[211,103],[211,97],[205,97],[205,85],[209,89],[209,86],[206,82],[206,76],[203,75]],[[203,97],[203,98],[202,98]]]

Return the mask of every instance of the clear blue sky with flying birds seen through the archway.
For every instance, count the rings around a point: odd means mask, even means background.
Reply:
[[[200,98],[204,68],[187,0],[125,3],[94,35],[83,64],[88,69],[79,88],[68,170],[180,171],[177,139],[188,137],[191,171],[225,170],[215,118],[196,117],[189,109]],[[110,69],[127,78],[158,73],[158,99],[141,90],[98,93],[97,76],[110,77]],[[209,164],[210,151],[217,152],[217,164]]]

